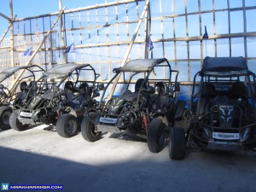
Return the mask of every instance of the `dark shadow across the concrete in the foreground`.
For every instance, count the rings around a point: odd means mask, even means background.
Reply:
[[[0,183],[61,184],[71,192],[255,191],[255,156],[244,154],[194,152],[181,161],[135,158],[98,166],[3,147],[0,154]]]

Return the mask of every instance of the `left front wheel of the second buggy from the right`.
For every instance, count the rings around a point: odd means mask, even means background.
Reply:
[[[89,114],[90,119],[96,119],[96,113]],[[96,142],[102,137],[102,132],[96,131],[96,125],[87,116],[81,124],[81,132],[87,142]]]

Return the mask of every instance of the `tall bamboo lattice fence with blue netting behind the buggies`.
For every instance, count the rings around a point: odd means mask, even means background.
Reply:
[[[123,0],[63,10],[59,0],[58,12],[16,19],[10,0],[10,18],[6,18],[10,38],[0,44],[0,70],[26,65],[30,60],[23,55],[26,49],[37,49],[45,38],[32,64],[50,68],[56,63],[90,63],[101,73],[98,81],[111,79],[113,68],[122,66],[126,56],[127,60],[166,57],[180,71],[178,81],[185,97],[190,95],[194,74],[207,55],[244,56],[256,72],[256,28],[248,21],[256,13],[255,1],[151,0],[145,6],[147,2]],[[208,39],[202,39],[204,26]],[[148,35],[154,44],[150,52]],[[71,44],[75,51],[65,53]]]

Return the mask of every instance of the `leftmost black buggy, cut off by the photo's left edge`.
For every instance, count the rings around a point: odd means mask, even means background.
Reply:
[[[0,73],[0,129],[10,128],[9,117],[13,113],[13,105],[23,104],[27,90],[35,82],[36,76],[42,73],[44,69],[37,65],[11,67]]]

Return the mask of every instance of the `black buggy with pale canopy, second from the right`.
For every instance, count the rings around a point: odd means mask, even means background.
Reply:
[[[172,70],[166,58],[128,61],[125,67],[114,68],[113,72],[115,75],[106,85],[99,107],[88,110],[83,119],[84,139],[95,142],[106,131],[135,134],[148,140],[151,152],[160,152],[166,127],[174,122],[178,72]],[[105,102],[108,86],[119,75],[121,83],[117,89],[123,92]]]

